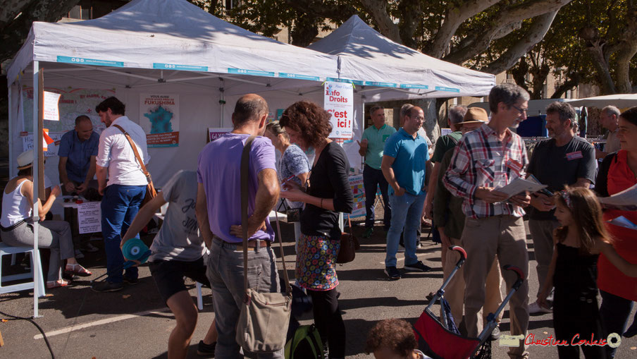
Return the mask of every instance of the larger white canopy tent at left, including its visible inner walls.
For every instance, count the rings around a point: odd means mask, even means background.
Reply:
[[[207,128],[231,126],[223,118],[225,96],[277,90],[297,97],[327,77],[338,77],[335,56],[256,35],[185,0],[135,0],[79,23],[35,22],[7,74],[11,176],[23,152],[20,133],[31,123],[31,129],[37,128],[37,116],[25,116],[30,109],[24,108],[24,87],[37,88],[40,68],[45,69],[47,88],[112,92],[128,105],[126,114],[133,121],[139,121],[140,94],[178,94],[182,140],[178,147],[149,150],[149,171],[160,186],[178,169],[196,168]],[[99,101],[94,99],[84,111],[92,111]],[[37,114],[35,99],[32,114]],[[99,124],[96,114],[88,115]],[[71,128],[68,122],[66,130]],[[57,178],[57,158],[51,159],[46,174]],[[34,231],[37,238],[37,224]],[[40,292],[36,289],[35,296],[44,294]]]

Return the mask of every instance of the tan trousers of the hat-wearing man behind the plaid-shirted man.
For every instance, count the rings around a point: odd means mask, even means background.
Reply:
[[[449,238],[451,245],[461,245],[460,240],[457,238]],[[445,258],[445,265],[443,266],[443,281],[447,279],[451,271],[456,267],[456,263],[460,259],[460,256],[454,250],[447,250]],[[502,276],[500,275],[500,265],[497,262],[497,258],[493,261],[489,274],[487,274],[487,281],[485,285],[486,297],[484,300],[483,310],[483,324],[487,322],[487,316],[489,313],[495,313],[497,307],[502,304]],[[456,327],[462,322],[462,308],[464,308],[464,265],[460,267],[458,272],[454,274],[453,278],[447,284],[445,288],[445,298],[449,302],[451,308],[451,314],[454,318]],[[500,312],[495,318],[495,321],[500,323],[504,310]]]

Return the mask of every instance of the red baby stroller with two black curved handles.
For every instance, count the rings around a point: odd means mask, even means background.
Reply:
[[[485,324],[478,338],[467,338],[460,335],[460,332],[454,324],[449,304],[444,296],[445,287],[449,284],[458,269],[462,267],[462,264],[464,264],[466,252],[458,245],[454,245],[449,249],[458,252],[460,259],[447,280],[443,283],[443,286],[435,293],[435,296],[433,296],[414,325],[419,349],[433,359],[491,358],[491,341],[488,339],[491,331],[493,331],[497,325],[495,318],[504,310],[505,305],[507,305],[513,293],[520,288],[524,281],[524,273],[518,267],[505,265],[504,269],[514,271],[517,274],[517,281],[515,281],[511,291],[507,294],[507,297],[502,300],[502,304],[497,308],[495,313],[488,315],[487,324]],[[440,301],[440,320],[431,312],[431,306],[438,300]]]

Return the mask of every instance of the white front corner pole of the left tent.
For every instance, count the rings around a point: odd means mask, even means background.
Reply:
[[[34,258],[33,258],[33,262],[31,265],[33,267],[35,267],[33,269],[33,317],[39,317],[39,313],[38,313],[38,308],[37,308],[37,298],[40,296],[39,293],[39,286],[41,285],[39,283],[39,267],[37,264],[35,263],[41,263],[40,262],[40,258],[39,258],[39,250],[37,248],[37,236],[38,236],[38,230],[39,230],[39,217],[38,217],[38,206],[37,206],[37,200],[38,200],[38,190],[39,190],[39,183],[37,181],[37,172],[38,172],[38,167],[39,167],[39,157],[40,157],[40,153],[37,151],[41,146],[42,146],[42,135],[37,135],[37,128],[38,128],[38,116],[39,116],[39,95],[38,95],[38,88],[39,88],[39,61],[33,61],[33,152],[34,152],[34,156],[33,156],[33,166],[31,167],[32,170],[32,177],[35,178],[35,180],[33,181],[33,196],[32,196],[32,208],[33,208],[33,252],[34,252]],[[38,145],[39,143],[39,145]],[[42,293],[42,295],[44,295],[44,293]]]

